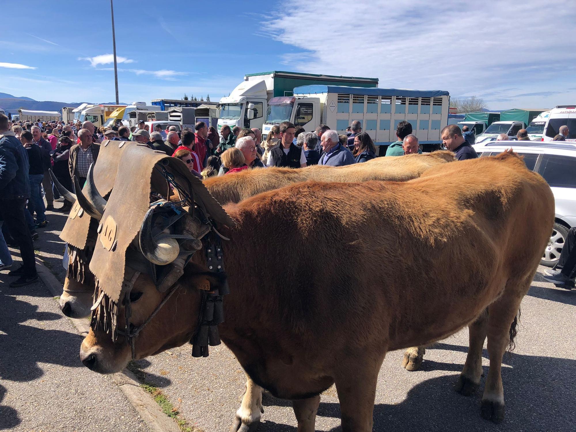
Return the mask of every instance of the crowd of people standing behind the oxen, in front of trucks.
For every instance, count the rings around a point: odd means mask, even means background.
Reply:
[[[518,132],[518,139],[524,139],[521,132]],[[454,152],[457,160],[478,157],[469,135],[469,131],[461,131],[454,124],[441,131],[442,143]],[[223,126],[219,137],[214,127],[203,122],[196,123],[194,130],[184,128],[181,131],[176,126],[162,130],[158,124],[150,132],[143,121],[138,126],[127,127],[118,120],[112,127],[97,129],[89,121],[66,124],[38,120],[33,124],[10,124],[6,116],[0,115],[0,137],[0,216],[3,219],[0,270],[12,266],[7,244],[20,247],[23,262],[20,268],[10,271],[10,275],[18,276],[11,286],[36,281],[32,242],[39,237],[37,229],[46,227],[49,222],[46,211],[71,209],[71,203],[60,197],[49,170],[67,190],[74,190],[74,179],[82,187],[90,165],[97,161],[100,143],[105,139],[145,143],[154,150],[179,158],[201,179],[270,166],[304,168],[316,164],[358,164],[372,160],[377,153],[372,138],[362,131],[357,120],[351,123],[345,135],[339,135],[324,124],[313,132],[306,132],[302,127],[284,122],[273,126],[263,141],[258,128]],[[385,156],[422,153],[409,122],[399,122],[396,137],[397,141],[388,146]],[[54,202],[58,201],[63,202],[62,207],[55,208]],[[569,251],[570,248],[565,249]],[[570,250],[576,253],[576,248]],[[566,263],[566,257],[562,262]],[[564,274],[558,271],[550,276],[562,279]]]

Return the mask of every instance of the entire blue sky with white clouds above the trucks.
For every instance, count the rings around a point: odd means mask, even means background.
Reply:
[[[393,7],[392,7],[393,5]],[[489,108],[576,102],[576,1],[115,0],[120,101],[226,96],[287,70],[448,90]],[[115,99],[109,1],[2,5],[0,92]],[[24,14],[23,14],[24,12]]]

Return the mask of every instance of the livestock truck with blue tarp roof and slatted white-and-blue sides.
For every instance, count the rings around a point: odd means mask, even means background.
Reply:
[[[433,151],[441,147],[440,130],[448,124],[449,103],[450,95],[443,90],[300,86],[294,88],[293,96],[271,98],[262,135],[266,137],[274,124],[282,122],[302,126],[306,132],[326,124],[345,134],[359,120],[383,156],[388,145],[397,141],[398,123],[406,120],[423,151]]]

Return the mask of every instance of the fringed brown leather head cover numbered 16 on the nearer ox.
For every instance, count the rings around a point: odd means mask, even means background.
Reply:
[[[98,226],[98,238],[90,260],[90,271],[96,279],[94,298],[102,298],[101,307],[97,309],[99,312],[93,314],[93,323],[95,320],[96,325],[103,323],[106,331],[111,329],[113,339],[118,304],[131,289],[131,285],[126,283],[133,270],[126,268],[127,249],[138,243],[134,240],[150,203],[159,197],[170,199],[171,195],[175,200],[166,176],[181,185],[185,194],[194,198],[215,225],[233,225],[222,206],[179,159],[151,150],[146,145],[131,145],[122,152],[119,166],[122,168],[118,170]],[[107,316],[112,318],[111,328],[104,323]]]

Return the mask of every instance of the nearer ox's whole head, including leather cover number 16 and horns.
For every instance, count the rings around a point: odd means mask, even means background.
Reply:
[[[80,351],[100,373],[192,338],[203,297],[196,288],[213,290],[219,278],[202,254],[190,260],[215,226],[233,225],[180,160],[132,147],[121,165],[90,260],[94,304]],[[150,183],[142,181],[146,173]]]

